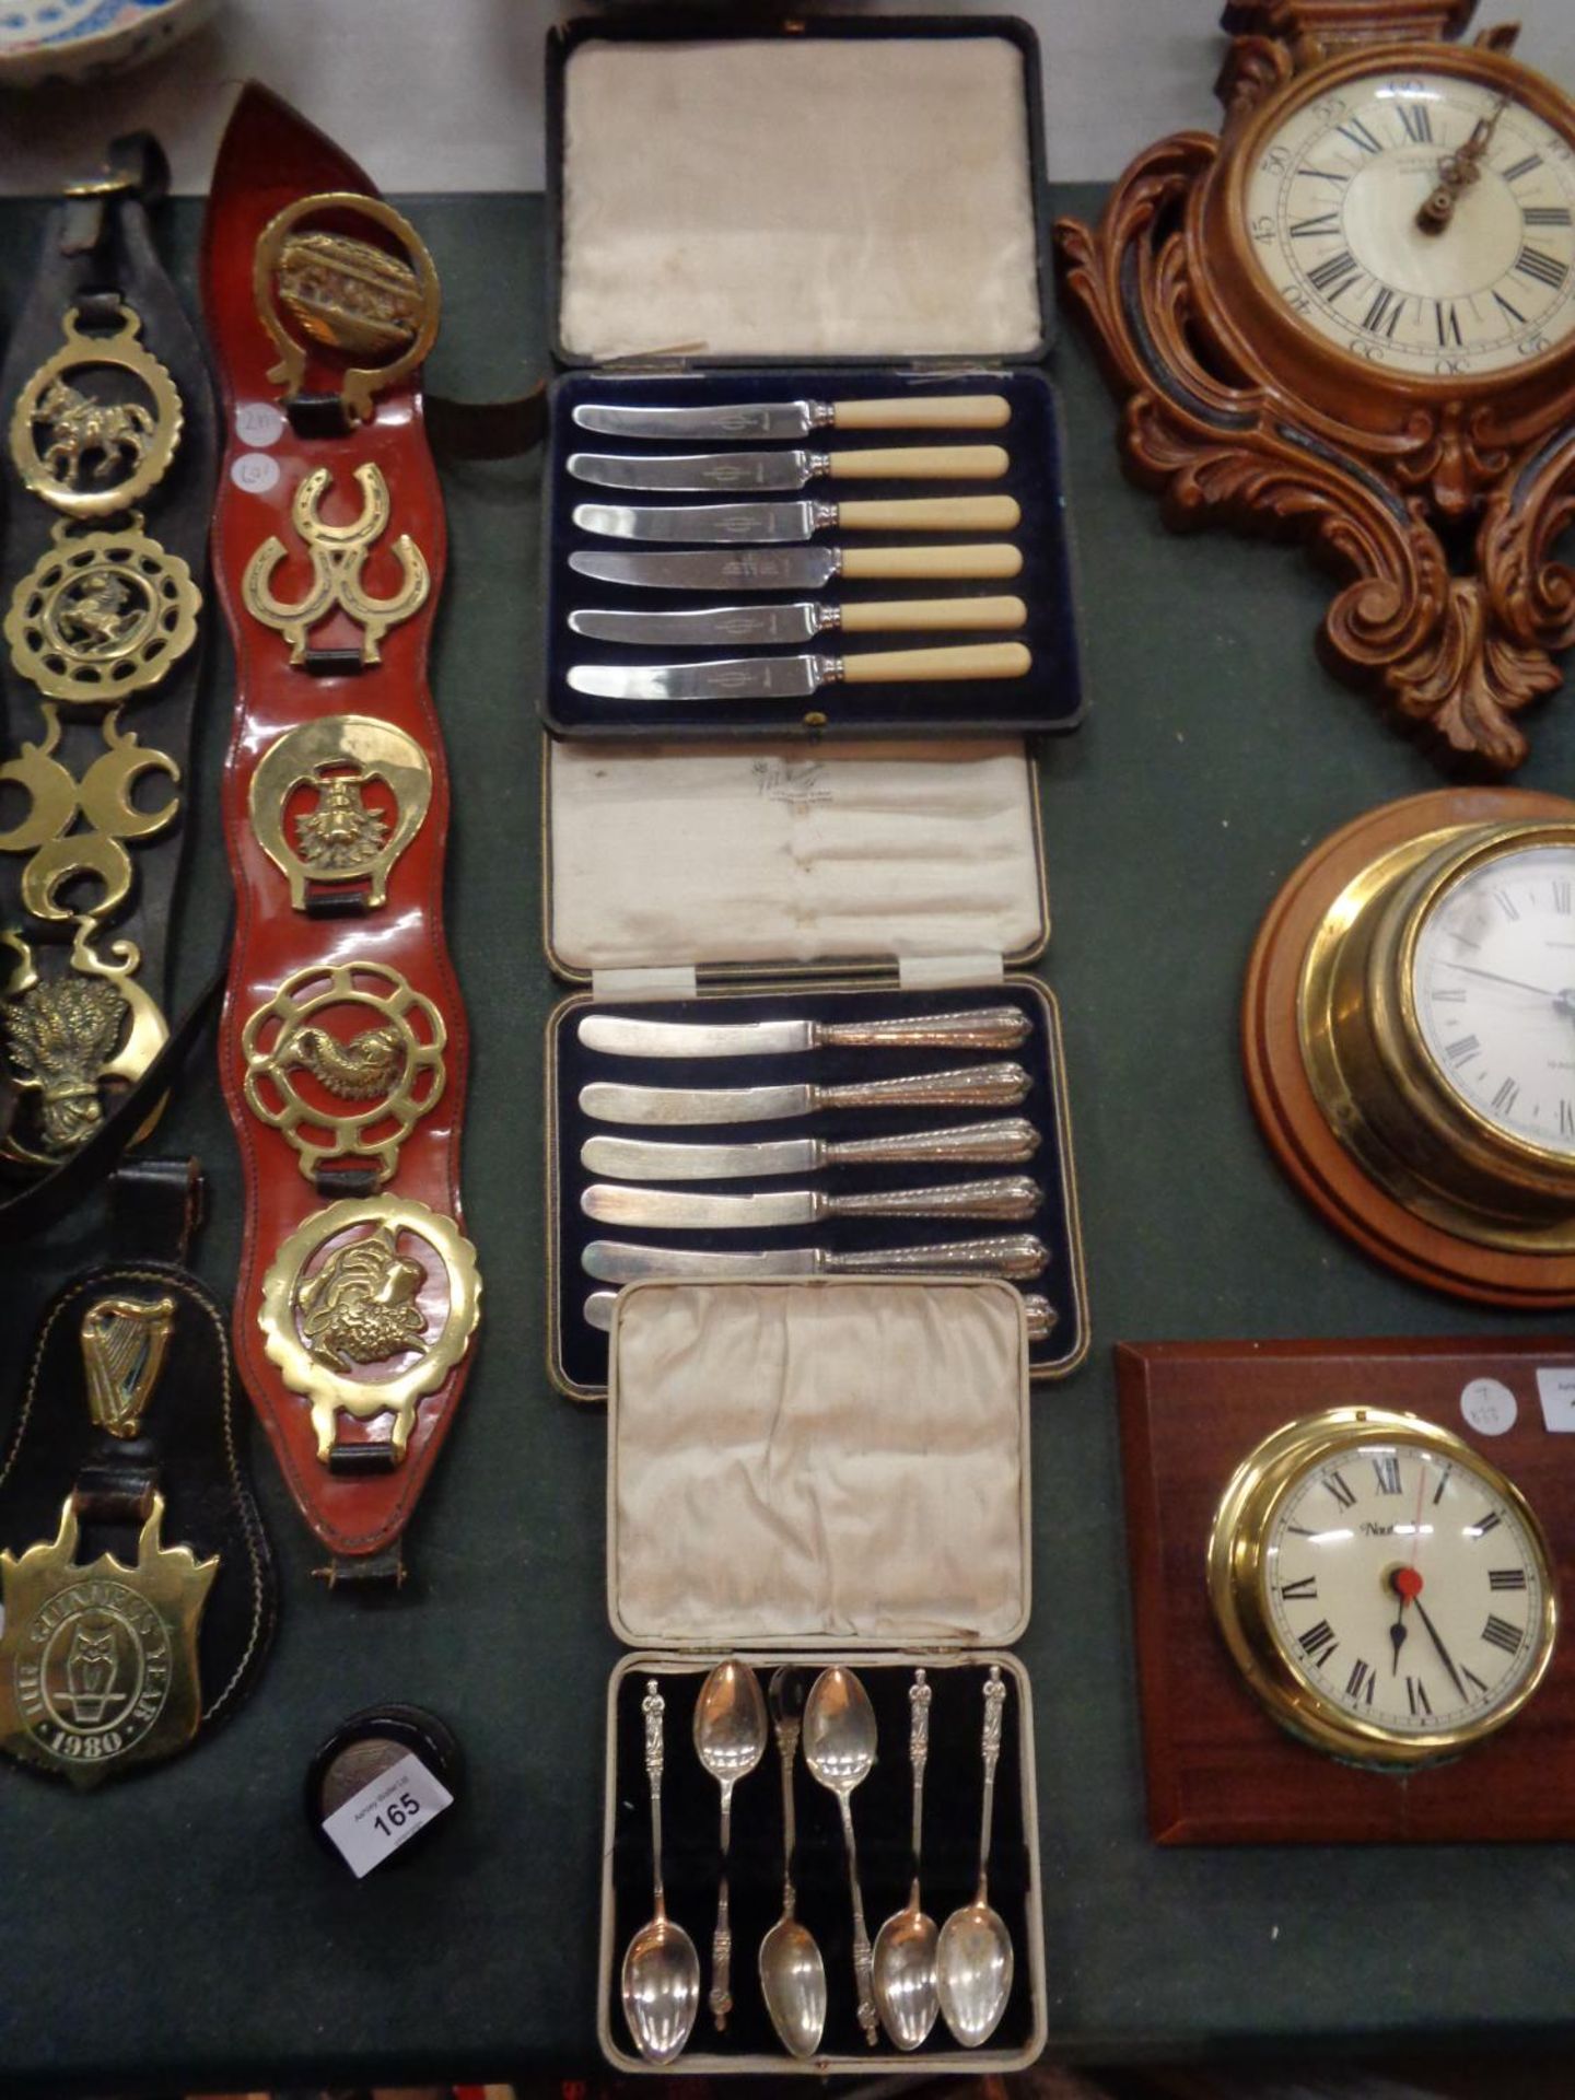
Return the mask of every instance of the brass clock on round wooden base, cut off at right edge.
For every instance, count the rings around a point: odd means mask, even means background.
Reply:
[[[1575,804],[1510,788],[1346,825],[1270,907],[1247,1084],[1334,1222],[1422,1281],[1575,1302]]]

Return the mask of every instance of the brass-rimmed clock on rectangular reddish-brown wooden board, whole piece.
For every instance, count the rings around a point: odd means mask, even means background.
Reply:
[[[1569,1336],[1115,1369],[1155,1842],[1575,1840]]]

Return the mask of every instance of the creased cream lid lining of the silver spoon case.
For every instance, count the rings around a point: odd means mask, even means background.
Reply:
[[[620,1638],[1004,1644],[1029,1604],[1004,1283],[643,1283],[617,1308]]]

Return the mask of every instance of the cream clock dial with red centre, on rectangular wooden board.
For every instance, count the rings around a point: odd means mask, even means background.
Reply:
[[[1508,1718],[1552,1644],[1550,1569],[1516,1504],[1464,1447],[1325,1453],[1279,1499],[1260,1560],[1292,1676],[1407,1741]]]

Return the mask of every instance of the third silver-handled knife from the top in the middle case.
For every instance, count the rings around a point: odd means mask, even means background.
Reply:
[[[607,1138],[598,1132],[580,1147],[580,1166],[609,1180],[754,1180],[844,1166],[1018,1166],[1037,1149],[1033,1124],[1006,1115],[991,1124],[911,1130],[895,1138],[762,1138],[754,1144],[664,1144],[659,1138]]]

